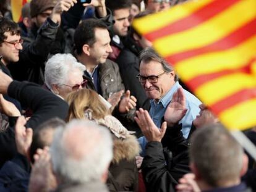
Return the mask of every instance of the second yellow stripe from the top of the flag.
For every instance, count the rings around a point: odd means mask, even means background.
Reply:
[[[245,23],[256,17],[256,11],[247,10],[252,6],[249,1],[239,1],[229,9],[221,12],[212,19],[203,22],[197,27],[176,33],[170,36],[164,36],[153,41],[153,47],[161,53],[161,56],[169,56],[177,52],[187,51],[190,49],[200,48],[207,44],[220,40],[224,36],[232,33],[232,31],[240,28]],[[256,1],[254,6],[256,7]],[[244,14],[243,17],[237,17],[237,14]],[[236,18],[236,20],[230,20]],[[197,37],[197,38],[195,38]],[[174,44],[171,49],[166,49],[170,44]]]

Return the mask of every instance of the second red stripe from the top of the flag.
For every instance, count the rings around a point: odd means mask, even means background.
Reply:
[[[185,59],[189,59],[190,57],[195,57],[200,54],[216,52],[216,51],[224,51],[226,49],[233,48],[238,44],[246,41],[252,36],[256,35],[256,18],[246,23],[244,26],[238,28],[233,33],[230,33],[228,36],[225,36],[221,40],[215,41],[212,44],[208,44],[202,48],[192,49],[190,51],[179,52],[177,54],[173,54],[171,56],[166,57],[166,60],[170,60],[173,62],[180,62]]]

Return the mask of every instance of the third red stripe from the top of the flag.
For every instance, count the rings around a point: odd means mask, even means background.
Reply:
[[[222,70],[221,72],[216,72],[216,73],[208,73],[208,74],[203,74],[203,75],[198,75],[195,78],[192,78],[189,81],[186,81],[187,86],[191,90],[196,90],[198,86],[202,86],[205,83],[208,83],[209,81],[215,80],[217,78],[223,77],[224,75],[231,75],[232,73],[250,73],[251,72],[251,67],[256,61],[256,58],[252,59],[250,62],[248,62],[247,65],[244,65],[241,68],[238,69],[227,69],[227,70]]]

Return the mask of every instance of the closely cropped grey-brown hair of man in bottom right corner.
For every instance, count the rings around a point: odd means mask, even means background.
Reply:
[[[221,124],[195,131],[191,140],[190,161],[208,185],[236,181],[242,170],[243,149]]]

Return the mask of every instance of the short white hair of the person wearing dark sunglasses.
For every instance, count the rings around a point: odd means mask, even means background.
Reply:
[[[77,62],[71,54],[55,54],[45,64],[45,84],[51,89],[52,85],[66,84],[69,73],[79,69],[81,75],[85,66]]]

